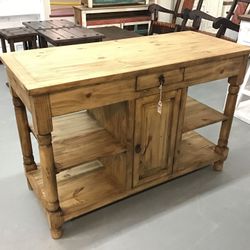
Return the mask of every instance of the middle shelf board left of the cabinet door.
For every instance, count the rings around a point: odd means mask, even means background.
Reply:
[[[58,172],[126,151],[86,111],[53,118],[52,143]]]

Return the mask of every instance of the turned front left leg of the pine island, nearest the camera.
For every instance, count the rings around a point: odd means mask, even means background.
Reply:
[[[42,171],[45,193],[45,209],[47,211],[51,236],[58,239],[62,236],[63,215],[59,206],[56,182],[56,169],[52,148],[52,117],[48,96],[36,96],[31,99],[32,119],[39,143],[40,167]]]

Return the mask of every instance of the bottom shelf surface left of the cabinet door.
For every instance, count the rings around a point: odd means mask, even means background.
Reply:
[[[32,171],[27,177],[33,190],[45,204],[45,193],[41,171]],[[123,189],[108,174],[99,161],[66,170],[57,175],[58,196],[64,220],[99,208]]]

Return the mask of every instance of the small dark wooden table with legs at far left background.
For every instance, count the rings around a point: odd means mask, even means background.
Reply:
[[[3,53],[7,52],[5,40],[8,41],[10,45],[10,51],[15,51],[14,44],[17,42],[23,42],[23,48],[25,50],[37,48],[37,33],[25,27],[0,29],[0,38]]]

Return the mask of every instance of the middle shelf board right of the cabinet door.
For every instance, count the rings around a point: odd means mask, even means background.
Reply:
[[[227,117],[211,107],[188,97],[186,103],[183,133],[225,121]]]

